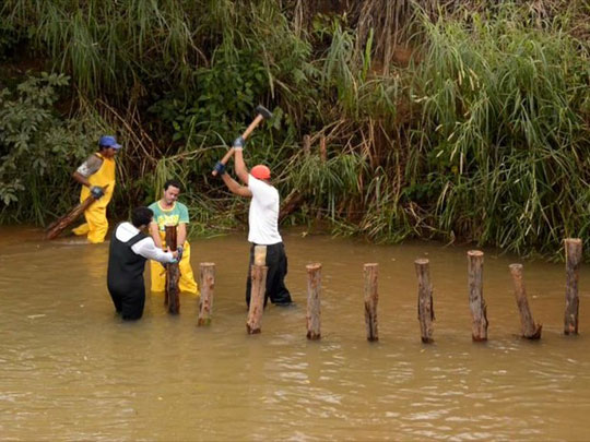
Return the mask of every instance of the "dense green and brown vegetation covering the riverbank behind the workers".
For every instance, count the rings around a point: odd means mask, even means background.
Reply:
[[[283,223],[519,253],[587,242],[590,3],[489,3],[4,0],[0,222],[67,211],[71,171],[113,132],[113,217],[174,176],[196,227],[232,228],[245,203],[209,172],[262,103],[274,117],[246,158],[275,171]]]

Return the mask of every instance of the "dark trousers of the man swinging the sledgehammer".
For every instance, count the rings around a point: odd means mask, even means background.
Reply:
[[[253,248],[250,248],[250,263],[248,265],[248,279],[246,280],[246,303],[250,306],[250,292],[252,289],[252,277],[250,268],[253,264]],[[272,303],[290,303],[291,294],[285,286],[285,276],[287,273],[287,259],[285,246],[282,242],[267,246],[267,290],[264,294],[264,306],[270,298]]]

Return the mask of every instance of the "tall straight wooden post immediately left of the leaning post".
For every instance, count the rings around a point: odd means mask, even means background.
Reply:
[[[483,252],[470,250],[468,261],[471,338],[475,342],[487,341],[487,306],[483,298]]]

